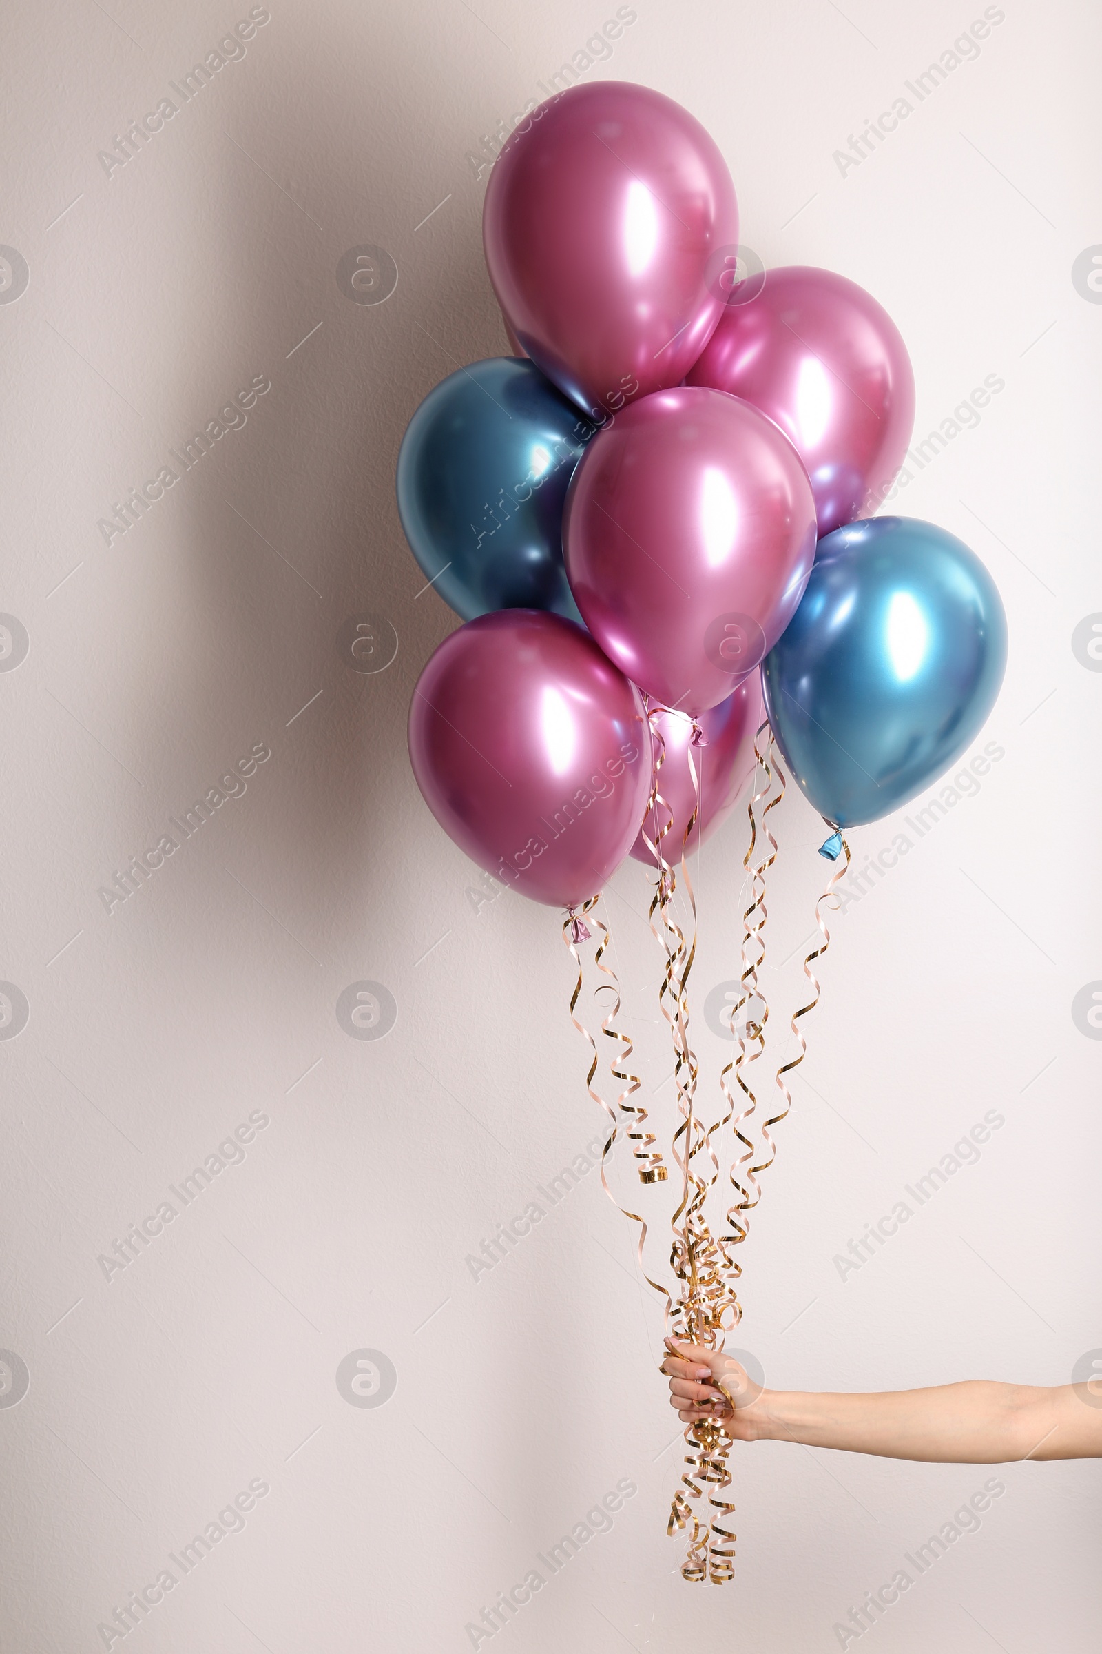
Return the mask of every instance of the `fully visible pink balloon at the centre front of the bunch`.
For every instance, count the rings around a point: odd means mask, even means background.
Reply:
[[[815,559],[815,500],[777,425],[722,390],[629,404],[590,443],[567,576],[610,660],[663,706],[715,706],[773,647]]]

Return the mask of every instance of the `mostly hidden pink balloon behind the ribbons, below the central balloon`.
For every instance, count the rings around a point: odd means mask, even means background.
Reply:
[[[702,839],[710,839],[739,802],[757,764],[753,736],[763,716],[762,676],[757,672],[752,672],[735,693],[729,695],[719,706],[709,706],[705,713],[701,713],[701,728],[707,736],[707,746],[692,748],[692,762],[696,764],[701,787],[701,814],[697,825],[686,840],[686,855],[696,850]],[[687,758],[692,719],[679,713],[667,713],[663,708],[663,711],[653,715],[653,723],[658,724],[666,743],[666,758],[658,774],[658,791],[669,805],[669,812],[658,807],[651,810],[639,829],[639,837],[631,845],[636,862],[644,862],[646,867],[654,867],[656,862],[653,852],[646,847],[643,834],[646,832],[651,844],[654,844],[656,834],[663,822],[667,820],[667,814],[672,814],[669,832],[663,839],[661,849],[667,862],[676,862],[681,855],[681,840],[692,815],[692,805],[696,804]]]

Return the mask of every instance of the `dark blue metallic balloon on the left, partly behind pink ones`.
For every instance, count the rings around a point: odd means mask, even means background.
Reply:
[[[398,513],[425,577],[464,620],[552,609],[580,620],[562,564],[567,483],[595,427],[532,362],[444,379],[398,453]]]

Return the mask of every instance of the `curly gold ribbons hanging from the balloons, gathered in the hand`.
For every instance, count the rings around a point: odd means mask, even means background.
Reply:
[[[719,1083],[724,1105],[719,1116],[705,1126],[697,1108],[699,1062],[689,1039],[689,978],[697,951],[697,908],[687,852],[689,839],[701,820],[701,772],[697,771],[694,754],[699,754],[707,741],[694,719],[692,734],[686,746],[692,781],[692,810],[681,832],[681,855],[677,857],[676,849],[672,852],[666,849],[666,840],[674,829],[674,812],[661,792],[661,771],[666,764],[667,751],[658,723],[659,711],[664,713],[664,708],[648,703],[654,769],[643,839],[654,857],[654,883],[648,920],[654,938],[663,948],[663,979],[658,1002],[669,1027],[674,1054],[672,1078],[677,1090],[677,1120],[671,1141],[671,1159],[681,1173],[681,1191],[676,1211],[671,1216],[672,1239],[669,1252],[669,1265],[676,1280],[676,1297],[664,1285],[651,1280],[646,1272],[646,1219],[639,1212],[621,1206],[608,1181],[606,1161],[621,1126],[631,1143],[633,1159],[643,1184],[664,1183],[667,1179],[667,1168],[658,1148],[656,1136],[648,1126],[648,1110],[639,1098],[641,1080],[633,1072],[633,1042],[618,1027],[621,994],[610,959],[611,931],[603,916],[603,908],[598,908],[596,896],[585,901],[580,910],[570,910],[563,920],[563,939],[578,968],[577,982],[570,996],[570,1019],[590,1049],[590,1065],[585,1078],[587,1090],[593,1102],[600,1103],[605,1110],[611,1126],[608,1141],[601,1151],[601,1188],[613,1206],[639,1226],[636,1252],[643,1279],[664,1298],[664,1322],[674,1338],[701,1345],[707,1350],[722,1350],[725,1335],[742,1320],[742,1303],[739,1302],[742,1265],[737,1247],[747,1239],[750,1212],[762,1199],[760,1178],[777,1159],[773,1130],[791,1110],[788,1075],[800,1067],[806,1055],[801,1019],[815,1011],[819,1001],[819,982],[811,964],[829,948],[831,938],[823,915],[824,910],[836,910],[839,906],[834,887],[849,870],[849,845],[839,829],[834,829],[833,837],[823,845],[823,853],[831,858],[838,858],[844,852],[844,863],[831,873],[826,890],[815,905],[815,920],[821,941],[803,961],[811,997],[790,1019],[800,1052],[788,1062],[780,1064],[773,1075],[780,1097],[773,1103],[773,1111],[762,1123],[760,1148],[755,1148],[750,1131],[752,1116],[758,1108],[758,1082],[753,1064],[760,1062],[765,1054],[768,1022],[768,999],[760,974],[767,956],[767,873],[773,868],[778,852],[770,814],[785,797],[786,777],[773,731],[768,719],[765,719],[753,741],[757,759],[755,784],[747,805],[750,844],[743,855],[743,868],[750,880],[748,905],[742,913],[739,997],[729,1012],[729,1025],[739,1044],[739,1052],[720,1072]],[[677,868],[674,867],[674,858],[679,862]],[[674,895],[679,882],[684,890],[684,906],[687,910],[681,920],[674,908]],[[600,1067],[598,1044],[577,1014],[585,978],[578,944],[591,939],[587,920],[593,923],[598,933],[593,963],[603,978],[595,987],[595,999],[601,992],[611,996],[603,1006],[601,1035],[613,1044],[610,1072],[613,1080],[621,1087],[615,1103],[608,1102],[595,1087]],[[732,1073],[734,1085],[730,1083]],[[725,1148],[729,1138],[730,1150]],[[730,1199],[730,1204],[724,1211],[724,1219],[714,1234],[709,1224],[709,1209],[724,1164],[734,1199]],[[687,1530],[686,1560],[681,1568],[682,1578],[691,1583],[710,1581],[712,1585],[725,1585],[734,1578],[735,1563],[735,1532],[732,1527],[735,1505],[729,1497],[732,1475],[727,1462],[732,1439],[714,1417],[704,1417],[686,1426],[684,1441],[686,1469],[681,1475],[681,1485],[672,1497],[666,1532],[672,1535],[679,1530]],[[702,1503],[705,1490],[707,1500]]]

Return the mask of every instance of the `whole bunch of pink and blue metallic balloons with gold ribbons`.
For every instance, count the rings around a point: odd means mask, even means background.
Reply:
[[[958,539],[872,514],[914,422],[894,323],[826,270],[739,280],[735,190],[686,109],[611,81],[550,98],[494,165],[482,238],[517,354],[436,385],[398,458],[410,546],[464,620],[416,685],[413,772],[473,860],[567,910],[572,946],[625,857],[656,870],[686,1115],[674,1315],[722,1341],[745,1222],[715,1239],[702,1219],[691,949],[667,918],[663,844],[684,872],[778,748],[831,829],[823,852],[848,860],[843,829],[905,804],[980,731],[1006,620]],[[613,1073],[638,1090],[623,1060]],[[661,1181],[644,1111],[629,1113],[639,1176]],[[739,1121],[735,1136],[748,1143]],[[763,1164],[732,1171],[735,1212]],[[692,1429],[699,1477],[722,1489],[717,1432]],[[677,1494],[671,1522],[689,1518]],[[729,1578],[734,1537],[719,1518],[699,1535],[686,1578]]]

